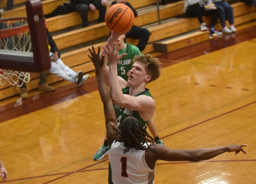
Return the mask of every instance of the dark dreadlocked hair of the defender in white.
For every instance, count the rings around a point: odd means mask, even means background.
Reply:
[[[134,117],[125,118],[120,131],[115,129],[115,127],[113,128],[117,131],[118,136],[112,137],[112,139],[115,139],[117,142],[124,142],[126,147],[124,153],[128,152],[130,148],[135,148],[136,150],[150,149],[149,146],[144,146],[144,144],[149,145],[152,143],[154,145],[154,142],[156,142]]]

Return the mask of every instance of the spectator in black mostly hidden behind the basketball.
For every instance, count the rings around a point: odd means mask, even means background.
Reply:
[[[129,2],[126,2],[126,0],[115,0],[112,2],[111,5],[115,5],[117,3],[122,3],[122,4],[127,5],[128,7],[130,7],[132,9],[132,11],[134,13],[134,17],[138,16],[136,10],[132,7],[132,5]],[[146,28],[142,28],[142,27],[133,25],[131,30],[128,33],[126,33],[126,38],[139,39],[139,43],[136,46],[142,52],[148,43],[148,39],[149,39],[150,35],[151,35],[151,33]]]

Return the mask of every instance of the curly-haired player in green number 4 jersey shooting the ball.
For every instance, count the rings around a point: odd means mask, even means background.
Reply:
[[[108,42],[111,42],[117,36],[117,33],[112,33]],[[101,69],[102,75],[104,75],[103,78],[107,80],[105,83],[109,83],[111,99],[115,110],[121,112],[120,116],[115,113],[117,121],[122,122],[123,118],[133,116],[140,120],[141,125],[146,128],[156,106],[154,99],[148,89],[146,89],[146,84],[156,80],[160,76],[160,62],[157,58],[152,58],[149,54],[136,55],[133,59],[132,68],[129,70],[128,81],[125,81],[117,75],[117,62],[127,54],[119,55],[119,48],[120,43],[115,44],[115,42],[112,44],[112,48],[109,43],[103,47],[108,57],[109,67],[103,64]],[[91,52],[91,56],[88,55],[92,61],[100,58],[99,50],[98,54],[96,54],[93,46],[92,50],[89,49],[89,51]],[[103,158],[108,152],[109,148],[103,145],[99,150],[99,155],[101,156],[99,159]],[[109,184],[112,184],[111,173],[111,165],[109,165]]]

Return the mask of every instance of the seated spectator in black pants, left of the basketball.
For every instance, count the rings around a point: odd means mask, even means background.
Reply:
[[[82,26],[89,26],[88,12],[91,10],[95,12],[99,10],[98,23],[105,21],[106,7],[108,5],[107,0],[70,0],[70,7],[74,12],[81,14]]]

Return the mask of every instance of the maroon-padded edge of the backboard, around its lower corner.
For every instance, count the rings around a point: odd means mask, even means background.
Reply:
[[[48,71],[50,56],[42,2],[41,0],[26,0],[25,4],[33,54],[19,52],[14,57],[12,52],[0,50],[0,68],[36,73]]]

